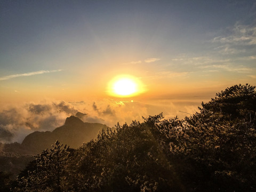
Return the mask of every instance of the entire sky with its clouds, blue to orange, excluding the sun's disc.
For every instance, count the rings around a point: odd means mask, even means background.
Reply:
[[[183,117],[228,86],[256,85],[255,45],[255,1],[3,0],[1,129],[51,130],[74,111],[111,126],[162,111]],[[143,91],[109,94],[121,75]]]

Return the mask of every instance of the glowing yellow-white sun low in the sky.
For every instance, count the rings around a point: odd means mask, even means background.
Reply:
[[[118,75],[109,82],[107,92],[114,97],[132,97],[145,92],[145,88],[134,76]]]

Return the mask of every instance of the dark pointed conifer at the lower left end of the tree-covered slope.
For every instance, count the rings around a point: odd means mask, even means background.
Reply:
[[[67,146],[62,148],[59,141],[37,155],[35,161],[30,162],[17,181],[14,191],[63,191],[66,190],[68,178],[67,164],[70,153]]]

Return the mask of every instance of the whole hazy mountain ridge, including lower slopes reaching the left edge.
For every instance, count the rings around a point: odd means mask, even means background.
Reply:
[[[56,140],[71,148],[78,148],[83,143],[95,139],[107,125],[100,123],[84,123],[75,116],[66,118],[64,125],[51,131],[35,131],[22,141],[22,143],[0,143],[0,172],[11,172],[15,176],[34,155],[42,153],[44,149],[52,148]],[[10,170],[12,167],[12,170]]]

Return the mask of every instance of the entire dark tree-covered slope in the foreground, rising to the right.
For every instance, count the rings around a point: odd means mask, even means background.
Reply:
[[[13,191],[256,191],[256,92],[235,85],[199,113],[117,124],[79,149],[57,141]]]

